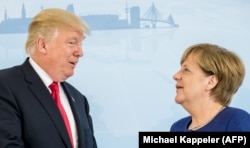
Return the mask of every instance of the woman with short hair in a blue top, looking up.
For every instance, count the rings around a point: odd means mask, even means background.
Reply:
[[[175,122],[170,131],[250,131],[249,113],[228,106],[244,76],[241,59],[225,48],[206,43],[187,48],[173,78],[175,101],[190,116]]]

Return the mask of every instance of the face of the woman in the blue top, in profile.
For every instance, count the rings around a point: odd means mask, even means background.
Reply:
[[[173,76],[176,81],[175,102],[178,104],[197,102],[207,94],[209,77],[195,62],[197,58],[196,55],[189,55],[182,63],[181,69]]]

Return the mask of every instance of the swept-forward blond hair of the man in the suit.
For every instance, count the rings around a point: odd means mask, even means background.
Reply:
[[[87,24],[75,14],[59,9],[49,8],[38,13],[29,25],[25,49],[28,54],[34,53],[35,42],[38,37],[50,40],[58,28],[69,28],[81,33],[89,34]]]

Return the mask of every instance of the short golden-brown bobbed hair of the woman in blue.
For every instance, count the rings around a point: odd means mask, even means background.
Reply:
[[[245,77],[245,67],[240,57],[223,47],[209,43],[188,47],[182,55],[181,64],[189,55],[197,55],[196,63],[203,72],[218,78],[218,83],[210,95],[220,104],[229,105]]]

